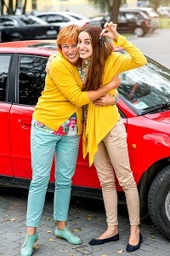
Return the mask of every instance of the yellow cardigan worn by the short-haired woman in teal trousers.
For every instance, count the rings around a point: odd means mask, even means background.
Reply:
[[[78,85],[79,84],[79,85]],[[81,90],[82,80],[77,67],[57,54],[50,64],[42,96],[39,97],[33,119],[57,131],[72,113],[77,113],[78,134],[82,133],[82,105],[90,102],[88,92]]]

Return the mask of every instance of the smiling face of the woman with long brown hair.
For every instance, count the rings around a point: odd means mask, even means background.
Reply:
[[[77,49],[82,59],[90,61],[93,54],[92,41],[88,32],[80,32],[78,35]]]

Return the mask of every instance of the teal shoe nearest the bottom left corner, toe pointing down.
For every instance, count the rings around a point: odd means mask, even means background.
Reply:
[[[21,247],[20,256],[31,256],[33,253],[34,242],[37,241],[38,234],[26,235],[25,241]]]

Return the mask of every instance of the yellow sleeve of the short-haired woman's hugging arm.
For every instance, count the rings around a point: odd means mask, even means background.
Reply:
[[[82,82],[77,67],[72,67],[71,63],[54,58],[50,65],[49,75],[60,92],[72,104],[82,107],[90,102],[88,92],[81,90]]]

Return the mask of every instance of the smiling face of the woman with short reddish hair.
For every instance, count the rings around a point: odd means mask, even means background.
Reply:
[[[65,59],[67,59],[74,65],[77,64],[77,61],[79,59],[79,53],[76,42],[65,42],[65,44],[61,44],[61,51]]]

